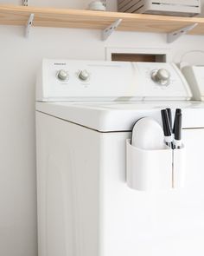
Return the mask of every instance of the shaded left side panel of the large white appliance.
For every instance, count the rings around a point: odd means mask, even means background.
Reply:
[[[99,133],[36,112],[39,256],[96,256]]]

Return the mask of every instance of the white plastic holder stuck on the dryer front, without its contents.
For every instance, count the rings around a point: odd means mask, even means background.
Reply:
[[[137,190],[166,190],[184,187],[185,148],[146,150],[126,140],[126,181]]]

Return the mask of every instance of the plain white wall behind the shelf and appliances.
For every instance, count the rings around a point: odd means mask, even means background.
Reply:
[[[72,8],[85,8],[88,2],[30,0],[33,5]],[[109,3],[114,10],[116,1]],[[134,32],[116,32],[101,42],[98,30],[52,28],[34,28],[26,39],[22,27],[0,26],[0,255],[37,255],[35,75],[41,59],[104,60],[105,47],[163,48],[170,49],[171,59],[178,62],[185,51],[204,50],[204,36],[165,42],[166,35]],[[194,62],[204,64],[204,55],[194,54]]]

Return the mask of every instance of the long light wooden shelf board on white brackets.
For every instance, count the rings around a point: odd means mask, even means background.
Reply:
[[[0,24],[27,25],[31,13],[35,14],[33,25],[41,27],[105,30],[121,18],[122,22],[117,30],[169,33],[198,23],[189,34],[204,35],[204,18],[199,17],[156,16],[3,4],[0,4]]]

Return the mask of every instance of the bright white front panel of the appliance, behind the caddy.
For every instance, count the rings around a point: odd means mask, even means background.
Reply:
[[[204,128],[183,130],[184,188],[137,191],[125,182],[128,133],[104,134],[103,256],[204,255]]]

